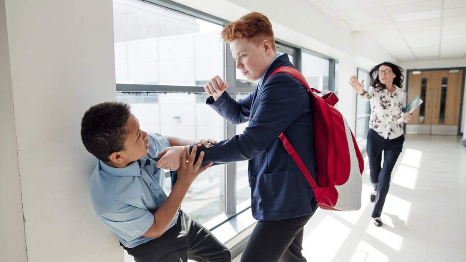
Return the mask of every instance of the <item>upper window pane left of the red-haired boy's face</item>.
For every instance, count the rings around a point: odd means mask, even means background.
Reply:
[[[113,0],[117,83],[204,86],[223,77],[222,26],[137,0]]]

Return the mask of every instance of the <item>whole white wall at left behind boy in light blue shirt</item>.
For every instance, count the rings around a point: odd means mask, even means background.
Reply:
[[[1,260],[122,261],[92,208],[80,138],[84,111],[116,98],[112,2],[0,6]]]

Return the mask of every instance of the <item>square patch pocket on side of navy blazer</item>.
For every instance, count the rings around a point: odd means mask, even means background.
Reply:
[[[299,207],[298,179],[295,170],[264,174],[264,185],[260,186],[264,209],[283,212]]]

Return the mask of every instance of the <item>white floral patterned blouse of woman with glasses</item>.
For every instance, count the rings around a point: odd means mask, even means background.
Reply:
[[[370,101],[371,104],[369,128],[385,139],[394,139],[403,135],[403,122],[398,124],[397,119],[401,117],[401,111],[406,106],[404,89],[395,86],[395,91],[390,94],[385,88],[371,86],[361,98]]]

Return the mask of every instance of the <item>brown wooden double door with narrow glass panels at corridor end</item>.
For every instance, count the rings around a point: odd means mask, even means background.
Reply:
[[[408,101],[424,103],[411,116],[406,133],[457,135],[460,123],[463,70],[411,71]]]

